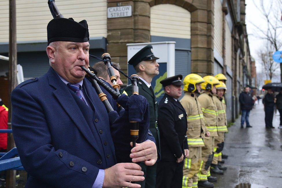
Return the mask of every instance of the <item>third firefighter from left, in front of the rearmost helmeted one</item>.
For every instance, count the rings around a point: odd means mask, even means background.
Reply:
[[[221,156],[221,151],[223,149],[223,142],[224,142],[224,133],[227,132],[227,118],[225,113],[225,108],[222,103],[222,97],[224,96],[227,87],[225,83],[219,81],[220,84],[216,85],[216,96],[214,102],[216,103],[217,112],[218,112],[218,137],[214,138],[214,158],[212,160],[211,165],[211,172],[216,174],[223,174],[222,170],[226,170],[227,167],[223,167],[218,164],[218,158]]]

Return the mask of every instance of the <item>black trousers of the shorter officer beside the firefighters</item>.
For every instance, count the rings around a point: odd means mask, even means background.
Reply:
[[[156,188],[181,188],[183,161],[181,163],[176,163],[176,161],[159,161]]]

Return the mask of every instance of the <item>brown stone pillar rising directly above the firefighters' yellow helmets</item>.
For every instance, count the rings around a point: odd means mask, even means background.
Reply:
[[[214,73],[214,0],[192,4],[198,9],[191,12],[191,72],[211,75]]]

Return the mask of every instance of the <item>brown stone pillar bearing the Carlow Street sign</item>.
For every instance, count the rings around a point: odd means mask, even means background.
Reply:
[[[150,5],[142,1],[107,0],[107,7],[132,6],[132,16],[107,19],[107,52],[127,73],[127,43],[150,42]],[[130,76],[130,75],[129,75]],[[126,84],[127,79],[121,76]]]

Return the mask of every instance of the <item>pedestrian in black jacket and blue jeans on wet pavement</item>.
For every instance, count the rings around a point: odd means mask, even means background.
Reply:
[[[253,108],[254,100],[250,93],[250,87],[244,87],[244,91],[239,96],[239,102],[241,105],[241,128],[244,127],[244,122],[246,121],[246,127],[252,127],[249,123],[249,114]]]

